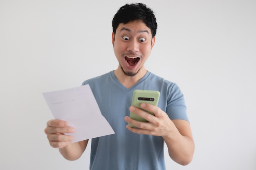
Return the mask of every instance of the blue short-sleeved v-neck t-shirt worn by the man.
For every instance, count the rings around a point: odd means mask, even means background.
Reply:
[[[125,116],[130,115],[135,89],[160,92],[158,107],[170,119],[188,121],[180,88],[149,71],[130,88],[123,86],[114,71],[83,82],[89,84],[101,114],[115,131],[113,135],[92,139],[90,170],[165,170],[162,137],[130,132]]]

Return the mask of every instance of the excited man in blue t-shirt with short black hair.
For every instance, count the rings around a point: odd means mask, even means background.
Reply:
[[[83,82],[90,85],[102,115],[115,131],[92,139],[90,170],[165,170],[164,142],[171,159],[187,165],[193,157],[194,143],[184,97],[175,83],[150,73],[144,66],[155,44],[157,22],[153,11],[145,4],[126,4],[115,14],[112,26],[118,68]],[[161,93],[158,106],[141,104],[154,115],[130,106],[135,89]],[[130,111],[148,122],[131,119]],[[50,145],[59,148],[65,159],[76,160],[88,140],[72,143],[74,138],[65,132],[74,133],[75,129],[66,121],[47,122],[45,133]]]

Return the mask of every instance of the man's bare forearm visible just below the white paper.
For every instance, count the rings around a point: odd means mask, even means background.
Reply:
[[[70,142],[70,144],[68,144],[64,148],[60,148],[59,151],[65,159],[74,161],[81,157],[81,155],[85,151],[87,144],[88,144],[88,140],[80,141],[76,143]]]

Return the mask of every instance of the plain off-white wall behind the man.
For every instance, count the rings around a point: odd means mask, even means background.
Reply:
[[[0,169],[88,170],[49,146],[42,93],[117,68],[111,21],[125,0],[0,0]],[[144,0],[156,13],[146,68],[182,89],[195,140],[188,166],[256,169],[256,1]]]

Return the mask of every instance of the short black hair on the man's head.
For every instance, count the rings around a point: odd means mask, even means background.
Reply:
[[[126,24],[134,20],[143,21],[146,26],[150,28],[152,38],[155,37],[157,33],[155,14],[152,9],[148,8],[146,4],[142,3],[125,4],[117,11],[112,20],[113,33],[116,34],[117,27],[120,23]]]

